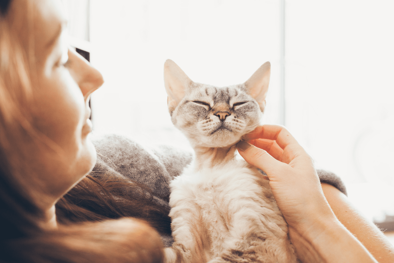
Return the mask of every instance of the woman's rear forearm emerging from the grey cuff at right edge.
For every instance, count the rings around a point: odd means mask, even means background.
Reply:
[[[379,263],[394,262],[394,248],[379,228],[366,219],[338,189],[327,183],[322,183],[322,189],[338,220],[375,259]]]

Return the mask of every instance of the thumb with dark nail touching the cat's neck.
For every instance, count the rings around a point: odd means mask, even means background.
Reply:
[[[268,152],[245,141],[237,143],[238,152],[247,163],[263,170],[269,177],[274,170],[281,169],[285,163],[278,161]]]

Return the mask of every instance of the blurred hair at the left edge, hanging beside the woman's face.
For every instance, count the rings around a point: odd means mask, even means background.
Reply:
[[[11,2],[12,6],[12,2]],[[15,30],[31,17],[17,19],[9,10],[0,13],[0,237],[11,238],[38,231],[39,207],[30,201],[29,193],[20,191],[24,170],[20,160],[28,157],[35,138],[26,104],[31,94],[28,57],[32,48],[22,46]],[[25,2],[27,14],[30,5]],[[22,7],[22,8],[23,8]],[[31,25],[31,23],[29,24]],[[28,37],[28,36],[25,36]],[[26,145],[26,147],[24,147]]]

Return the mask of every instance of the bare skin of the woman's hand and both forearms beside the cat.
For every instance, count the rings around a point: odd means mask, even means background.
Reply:
[[[393,262],[394,249],[338,189],[320,184],[313,160],[282,126],[245,135],[238,152],[266,172],[302,262]],[[357,237],[357,238],[356,238]]]

